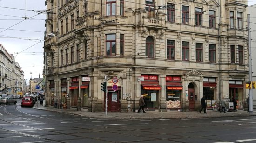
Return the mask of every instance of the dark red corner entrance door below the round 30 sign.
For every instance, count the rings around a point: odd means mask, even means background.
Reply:
[[[120,92],[108,92],[108,111],[119,112],[120,108]]]

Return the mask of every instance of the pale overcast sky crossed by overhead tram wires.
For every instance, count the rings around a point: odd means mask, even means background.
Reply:
[[[45,0],[0,0],[0,44],[15,56],[27,80],[42,78],[45,10]]]

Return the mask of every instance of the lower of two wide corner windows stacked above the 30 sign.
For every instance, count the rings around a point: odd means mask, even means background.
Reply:
[[[115,34],[106,35],[106,55],[107,56],[116,55],[116,35]]]

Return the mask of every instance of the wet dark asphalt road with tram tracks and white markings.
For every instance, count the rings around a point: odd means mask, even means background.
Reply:
[[[114,120],[0,105],[0,143],[256,143],[256,117]]]

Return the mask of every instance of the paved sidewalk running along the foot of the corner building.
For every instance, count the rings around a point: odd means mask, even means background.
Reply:
[[[237,110],[237,112],[215,112],[212,110],[207,110],[207,114],[203,112],[199,113],[197,111],[191,112],[179,112],[179,111],[168,111],[168,112],[155,112],[155,111],[146,111],[147,113],[137,113],[137,112],[88,112],[87,110],[82,109],[82,111],[77,111],[76,108],[71,109],[57,109],[51,107],[41,106],[40,104],[37,107],[37,104],[34,105],[35,109],[54,111],[54,112],[64,112],[68,114],[80,115],[87,118],[109,118],[109,119],[168,119],[168,118],[214,118],[214,117],[235,117],[235,116],[256,116],[254,112],[250,115],[247,111]]]

